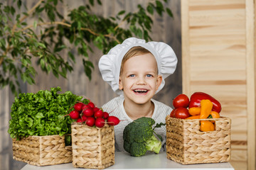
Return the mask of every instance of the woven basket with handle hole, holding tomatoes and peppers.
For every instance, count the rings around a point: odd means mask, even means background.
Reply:
[[[215,130],[201,132],[200,120],[215,120]],[[230,118],[184,120],[166,116],[167,158],[180,164],[230,161]]]

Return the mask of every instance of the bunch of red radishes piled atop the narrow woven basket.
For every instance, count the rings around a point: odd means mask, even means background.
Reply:
[[[74,110],[68,114],[70,118],[76,120],[77,123],[85,123],[86,125],[97,128],[102,128],[106,123],[108,125],[119,124],[119,118],[110,115],[109,113],[102,111],[101,108],[97,108],[91,101],[85,103],[75,103]]]

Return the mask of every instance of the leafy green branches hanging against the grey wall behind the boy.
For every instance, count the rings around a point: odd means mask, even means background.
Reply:
[[[100,0],[87,1],[85,6],[71,10],[65,17],[57,8],[61,3],[62,0],[39,0],[30,9],[25,6],[26,11],[21,10],[24,6],[21,0],[13,1],[15,7],[0,3],[0,89],[9,85],[11,91],[18,94],[21,92],[18,77],[24,83],[35,84],[37,72],[32,59],[43,72],[65,78],[73,71],[75,62],[82,60],[85,74],[91,79],[94,68],[88,57],[91,45],[106,53],[131,36],[151,40],[154,13],[173,16],[165,7],[167,0],[151,1],[145,7],[139,4],[136,12],[121,10],[108,18],[97,16],[91,10],[95,3],[101,5]],[[33,24],[29,25],[28,21]],[[67,57],[61,55],[63,50]]]

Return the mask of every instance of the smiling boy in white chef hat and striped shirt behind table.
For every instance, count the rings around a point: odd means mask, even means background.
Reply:
[[[107,102],[102,109],[122,120],[114,126],[115,149],[124,152],[123,130],[133,120],[153,118],[156,123],[165,123],[172,109],[156,101],[153,96],[164,87],[164,79],[176,69],[174,51],[164,42],[145,42],[128,38],[116,45],[99,62],[102,78],[112,86],[119,97]],[[164,141],[166,128],[156,129]]]

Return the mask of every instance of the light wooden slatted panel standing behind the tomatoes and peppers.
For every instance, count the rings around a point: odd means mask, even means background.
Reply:
[[[205,91],[232,119],[231,163],[255,169],[254,4],[181,1],[183,93]]]

